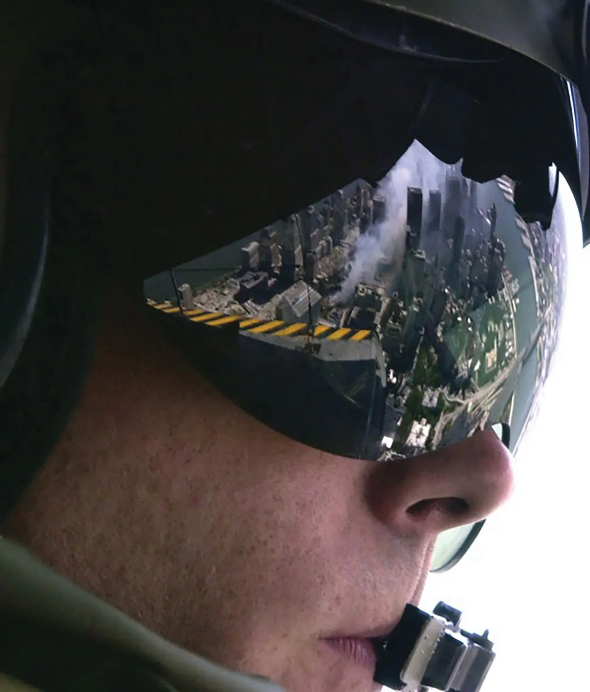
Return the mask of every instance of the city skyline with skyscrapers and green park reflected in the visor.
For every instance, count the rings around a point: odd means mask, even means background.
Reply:
[[[248,338],[277,346],[273,335],[288,334],[293,348],[293,337],[303,344],[324,328],[344,341],[347,333],[373,339],[386,367],[386,457],[461,439],[490,417],[511,421],[517,397],[501,384],[515,381],[531,357],[538,361],[537,383],[546,376],[544,354],[551,352],[548,340],[558,318],[557,277],[547,268],[554,266],[559,239],[553,234],[548,242],[538,224],[527,226],[515,215],[511,181],[488,185],[505,199],[485,210],[479,194],[487,186],[465,179],[458,166],[446,167],[443,189],[408,185],[403,244],[396,253],[374,242],[390,200],[357,181],[250,237],[239,249],[239,266],[209,286],[180,286],[181,305],[237,316],[242,325],[266,320],[270,327]],[[512,228],[499,226],[502,205],[512,208]],[[519,234],[528,277],[507,257],[508,233]],[[369,251],[373,255],[363,264]],[[351,283],[355,271],[360,280]],[[530,312],[531,290],[533,321],[542,326],[523,336],[519,316]],[[340,358],[352,364],[360,352],[358,343],[349,345]],[[321,345],[314,353],[322,358]]]

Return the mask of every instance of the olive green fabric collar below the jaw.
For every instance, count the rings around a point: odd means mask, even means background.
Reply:
[[[22,638],[21,648],[35,648],[35,653],[31,654],[35,659],[33,662],[28,660],[27,670],[31,667],[42,668],[40,662],[35,666],[40,655],[39,637],[35,639],[35,647],[28,646],[26,642],[32,641],[30,632],[44,632],[40,635],[41,641],[46,643],[48,650],[56,646],[56,638],[61,639],[62,635],[64,641],[73,642],[71,664],[74,668],[82,656],[79,648],[84,646],[84,651],[92,654],[88,656],[91,661],[102,657],[104,664],[106,658],[112,660],[116,657],[119,661],[133,661],[134,667],[145,666],[158,676],[158,680],[162,680],[162,686],[158,689],[178,692],[282,692],[281,687],[266,677],[236,673],[158,637],[120,610],[59,576],[23,547],[1,537],[0,575],[0,619],[3,622],[10,619],[11,623],[24,626],[28,633]],[[19,630],[19,626],[13,631]],[[59,634],[56,635],[56,632]],[[19,636],[14,635],[11,641]],[[41,649],[45,647],[44,643]],[[62,646],[59,655],[63,655],[63,649]],[[105,656],[105,651],[111,654]],[[14,657],[12,655],[10,660]],[[53,653],[50,657],[55,661]],[[0,671],[3,671],[2,666],[0,662]],[[68,671],[68,663],[62,668]],[[34,675],[29,677],[33,679],[26,682],[37,684],[41,689],[49,690],[52,687],[51,684],[38,684]]]

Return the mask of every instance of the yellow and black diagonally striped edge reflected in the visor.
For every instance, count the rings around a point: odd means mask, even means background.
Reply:
[[[262,320],[243,315],[225,315],[222,312],[210,312],[207,310],[181,310],[168,302],[156,303],[147,301],[151,307],[161,310],[169,315],[183,316],[192,322],[203,322],[210,327],[221,327],[231,322],[239,321],[242,331],[250,334],[272,334],[273,336],[306,336],[307,322],[284,322],[283,320]],[[313,328],[313,336],[327,341],[363,341],[371,336],[369,329],[352,329],[351,327],[330,327],[329,325],[316,325]]]

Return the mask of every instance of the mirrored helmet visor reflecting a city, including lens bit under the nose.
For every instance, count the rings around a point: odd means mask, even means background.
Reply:
[[[561,195],[544,231],[513,194],[414,143],[377,188],[187,257],[145,297],[225,396],[303,444],[387,462],[504,423],[514,451],[557,341],[566,248]],[[441,534],[433,569],[474,533]]]

